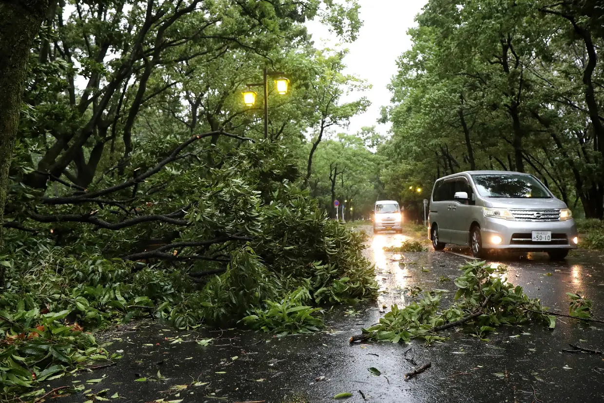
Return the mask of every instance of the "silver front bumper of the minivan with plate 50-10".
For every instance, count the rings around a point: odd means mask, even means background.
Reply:
[[[548,251],[552,249],[577,249],[574,238],[578,236],[574,220],[567,221],[507,221],[485,218],[481,225],[484,249],[506,249],[521,251]],[[550,241],[533,241],[533,231],[550,231]],[[501,243],[493,243],[500,236]]]

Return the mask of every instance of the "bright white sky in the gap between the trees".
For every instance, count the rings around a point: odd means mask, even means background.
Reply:
[[[396,59],[411,48],[410,37],[406,31],[416,26],[417,13],[427,0],[359,0],[359,11],[363,26],[358,39],[352,44],[345,44],[349,54],[345,57],[347,65],[345,74],[353,74],[367,80],[372,88],[365,92],[371,106],[362,115],[350,120],[350,133],[356,133],[363,126],[376,126],[377,131],[387,135],[390,124],[378,124],[382,106],[390,105],[390,91],[386,86],[396,74]],[[316,47],[335,47],[338,39],[330,34],[327,28],[318,21],[306,24],[309,33],[315,40]],[[350,99],[358,99],[355,94]],[[345,131],[339,128],[339,131]]]

